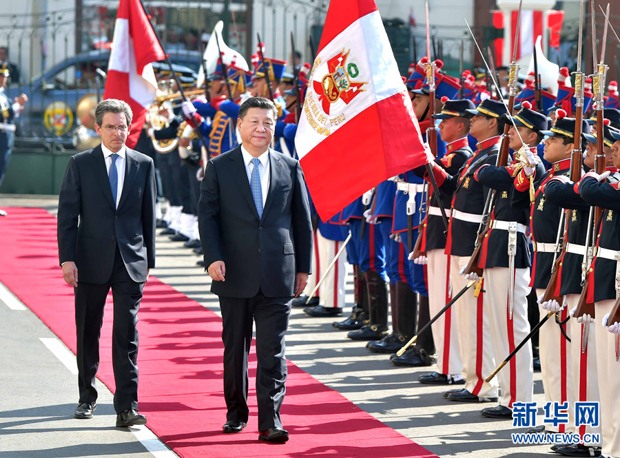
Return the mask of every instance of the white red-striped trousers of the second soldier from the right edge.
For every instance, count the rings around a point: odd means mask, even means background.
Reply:
[[[566,296],[566,309],[572,310],[579,302],[579,294]],[[602,317],[599,317],[602,318]],[[600,402],[599,374],[597,372],[597,340],[595,337],[595,323],[579,324],[577,320],[570,321],[570,369],[572,371],[572,386],[575,392],[575,402]],[[588,344],[585,351],[583,348],[583,329],[588,329]],[[575,428],[576,429],[576,428]],[[581,425],[575,431],[583,439],[584,434],[602,435],[601,424],[599,426]],[[599,446],[601,444],[598,444]]]

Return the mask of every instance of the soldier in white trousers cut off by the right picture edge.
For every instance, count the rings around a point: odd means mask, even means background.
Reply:
[[[620,167],[620,134],[614,140],[614,166]],[[620,457],[620,324],[611,320],[620,294],[620,191],[615,178],[588,172],[579,183],[579,194],[592,206],[603,208],[597,235],[596,256],[590,266],[586,300],[595,303],[597,371],[601,397],[603,449],[601,455]],[[611,179],[610,179],[611,178]]]

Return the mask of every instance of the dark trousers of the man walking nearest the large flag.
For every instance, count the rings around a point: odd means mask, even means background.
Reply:
[[[256,322],[256,398],[258,430],[282,427],[280,406],[287,380],[285,333],[289,326],[291,298],[266,298],[262,291],[254,298],[220,296],[224,342],[224,398],[227,420],[247,422],[247,355],[252,341],[252,320]]]

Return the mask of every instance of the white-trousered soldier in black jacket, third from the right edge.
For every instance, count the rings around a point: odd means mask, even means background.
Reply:
[[[590,133],[590,126],[584,120],[583,133]],[[561,218],[560,205],[547,200],[546,187],[555,176],[570,175],[570,154],[575,147],[575,118],[567,118],[564,110],[557,110],[557,118],[550,130],[542,132],[548,136],[545,140],[544,158],[551,163],[551,167],[544,174],[540,174],[533,167],[524,167],[515,178],[516,193],[515,207],[530,207],[530,234],[534,245],[534,262],[530,286],[536,289],[541,298],[551,280],[553,264],[559,253],[559,232],[564,231],[564,218]],[[583,142],[585,144],[585,142]],[[535,199],[530,205],[530,177],[535,183]],[[560,227],[560,221],[562,226]],[[548,311],[541,309],[543,318]],[[573,413],[573,386],[570,365],[570,342],[567,340],[567,326],[561,324],[568,318],[568,310],[563,309],[557,320],[545,324],[539,331],[540,364],[546,402],[562,404],[568,402],[568,413],[572,421]],[[553,322],[555,321],[555,322]],[[570,332],[570,331],[569,331]],[[546,424],[530,430],[552,433],[565,433],[572,428],[569,424]]]

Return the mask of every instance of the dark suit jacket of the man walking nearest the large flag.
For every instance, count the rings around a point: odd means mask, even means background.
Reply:
[[[254,205],[241,147],[209,160],[200,185],[198,225],[205,267],[225,262],[211,292],[252,298],[293,296],[296,273],[311,273],[312,227],[299,161],[269,149],[270,184],[262,218]]]

